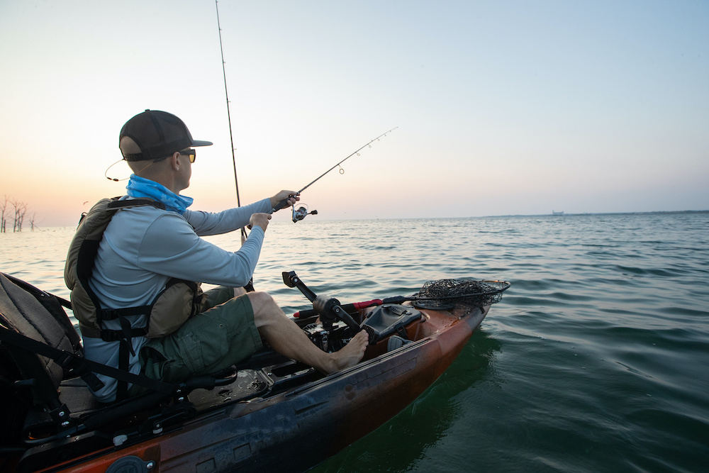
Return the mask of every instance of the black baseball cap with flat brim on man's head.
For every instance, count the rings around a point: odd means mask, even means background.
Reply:
[[[130,118],[121,128],[119,145],[124,136],[132,138],[140,148],[137,154],[123,155],[126,161],[157,160],[191,146],[212,144],[211,141],[193,140],[182,120],[160,110],[146,110]]]

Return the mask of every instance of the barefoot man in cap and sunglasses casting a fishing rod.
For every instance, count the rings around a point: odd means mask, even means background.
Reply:
[[[101,309],[148,306],[152,307],[151,330],[153,318],[179,328],[171,333],[149,333],[152,338],[148,338],[130,335],[130,330],[145,325],[145,315],[126,316],[123,323],[118,319],[103,321],[101,329],[118,333],[118,338],[123,338],[120,341],[87,336],[89,329],[84,332],[84,320],[77,317],[82,321],[86,357],[113,367],[119,367],[123,357],[130,372],[174,383],[227,369],[259,350],[264,338],[281,355],[324,373],[355,365],[367,347],[366,332],[358,333],[342,350],[326,353],[311,343],[269,294],[250,292],[235,297],[235,290],[230,288],[245,286],[251,279],[272,209],[284,199],[289,205],[295,204],[299,197],[294,191],[281,191],[269,199],[220,213],[187,210],[192,199],[179,193],[189,187],[194,147],[211,144],[193,140],[182,120],[163,111],[146,110],[123,126],[119,148],[134,174],[126,187],[128,195],[121,200],[151,199],[149,202],[157,201],[164,208],[151,204],[116,211],[96,252],[90,290]],[[235,253],[200,238],[247,224],[252,228],[250,235]],[[159,309],[160,302],[156,302],[167,297],[166,288],[176,280],[220,287],[206,293],[206,304],[201,302],[203,311],[191,317],[191,313],[183,314],[186,321],[178,318],[176,323],[169,320],[174,315]],[[186,293],[187,299],[192,296],[191,291]],[[123,337],[121,333],[128,335]],[[121,352],[121,343],[128,343],[128,350]],[[94,393],[96,398],[114,401],[120,383],[101,375],[99,378],[105,386]],[[143,390],[137,385],[124,386],[128,396]]]

